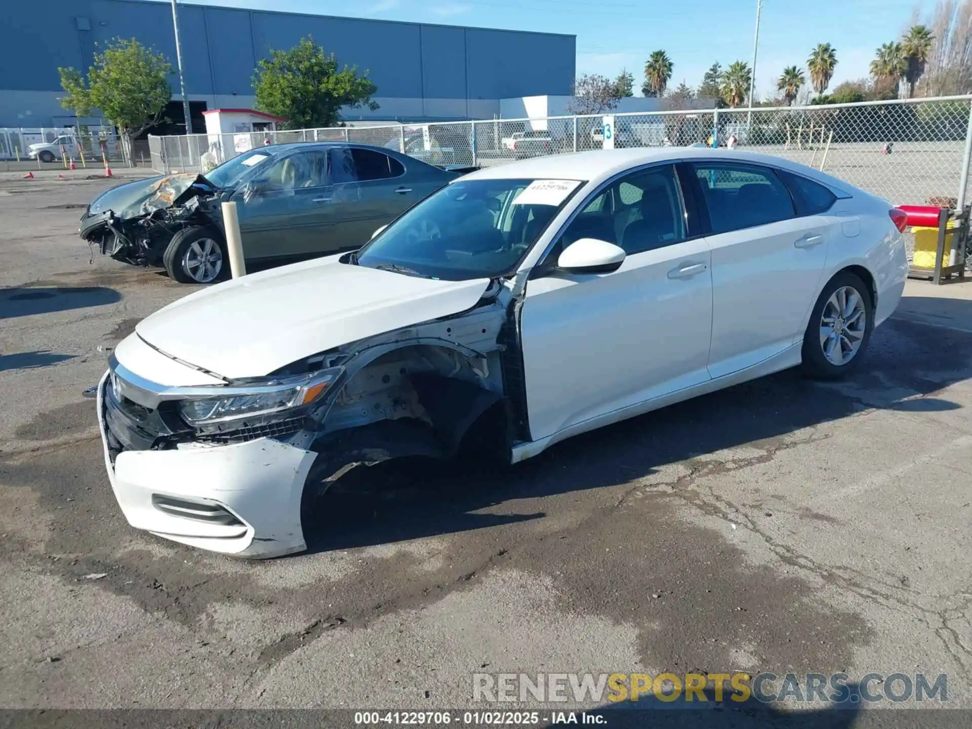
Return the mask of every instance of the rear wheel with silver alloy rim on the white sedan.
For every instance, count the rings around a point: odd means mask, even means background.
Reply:
[[[870,287],[850,271],[827,282],[803,337],[807,375],[833,380],[857,368],[874,330],[872,297]]]

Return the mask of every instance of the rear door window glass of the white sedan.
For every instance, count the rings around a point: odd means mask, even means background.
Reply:
[[[706,162],[693,166],[713,233],[765,226],[796,215],[789,191],[768,167]]]

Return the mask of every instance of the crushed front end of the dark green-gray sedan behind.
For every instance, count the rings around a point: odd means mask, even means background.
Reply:
[[[221,191],[195,173],[139,180],[88,205],[78,233],[103,256],[158,265],[169,241],[183,228],[221,226],[220,198]]]

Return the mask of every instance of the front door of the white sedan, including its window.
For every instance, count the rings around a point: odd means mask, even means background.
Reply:
[[[580,211],[531,274],[521,311],[534,440],[621,419],[625,408],[710,379],[711,253],[686,229],[673,165],[631,172]],[[557,268],[579,238],[607,240],[627,257],[610,273]]]

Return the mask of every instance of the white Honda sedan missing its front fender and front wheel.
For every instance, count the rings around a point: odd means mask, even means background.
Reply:
[[[138,529],[297,552],[356,465],[512,464],[786,367],[851,372],[904,289],[904,226],[883,199],[740,151],[482,169],[356,253],[142,321],[98,386],[108,477]]]

